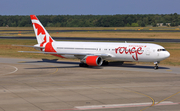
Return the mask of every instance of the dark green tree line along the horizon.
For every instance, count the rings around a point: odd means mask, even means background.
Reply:
[[[135,14],[135,15],[39,15],[45,27],[145,27],[157,23],[180,25],[180,15]],[[31,27],[30,16],[0,15],[0,27]]]

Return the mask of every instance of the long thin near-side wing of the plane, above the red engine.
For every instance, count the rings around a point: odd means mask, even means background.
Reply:
[[[101,56],[101,57],[111,57],[110,54],[92,54],[92,53],[61,53],[61,52],[38,52],[38,51],[18,51],[24,53],[39,53],[39,54],[58,54],[58,55],[76,55],[76,56]]]

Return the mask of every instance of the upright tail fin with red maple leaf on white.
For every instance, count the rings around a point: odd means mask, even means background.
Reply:
[[[41,44],[43,46],[44,43],[53,42],[54,40],[51,38],[38,18],[35,15],[30,15],[30,17],[38,44]]]

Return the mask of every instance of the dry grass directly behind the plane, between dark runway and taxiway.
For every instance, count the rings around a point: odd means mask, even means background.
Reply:
[[[35,53],[19,53],[18,51],[36,51],[34,48],[12,46],[17,45],[35,45],[36,40],[15,40],[15,39],[0,39],[0,57],[15,57],[15,58],[47,58],[47,59],[61,59],[48,54],[35,54]],[[168,50],[171,56],[161,61],[161,65],[167,66],[180,66],[180,44],[179,43],[157,43],[162,45]],[[136,62],[137,63],[137,62]],[[152,64],[143,63],[140,64]]]

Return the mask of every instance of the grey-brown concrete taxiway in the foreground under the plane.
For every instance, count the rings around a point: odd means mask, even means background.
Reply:
[[[179,111],[180,68],[0,58],[0,111]]]

